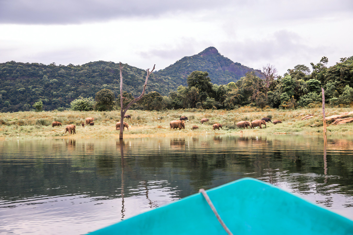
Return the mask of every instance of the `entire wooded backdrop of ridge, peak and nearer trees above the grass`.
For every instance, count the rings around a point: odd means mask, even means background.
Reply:
[[[281,76],[273,66],[253,70],[223,57],[215,48],[207,48],[152,73],[146,94],[132,108],[234,109],[251,105],[293,109],[319,103],[321,87],[325,89],[327,103],[350,105],[353,56],[341,58],[331,67],[327,63],[328,58],[323,57],[320,62],[311,63],[312,71],[297,65]],[[124,103],[140,93],[145,75],[145,70],[125,65]],[[119,64],[114,62],[57,66],[11,61],[0,64],[0,80],[0,112],[72,109],[85,102],[89,104],[87,109],[120,108],[115,101],[120,97]],[[112,104],[99,103],[99,99],[105,99],[104,94],[109,94]]]

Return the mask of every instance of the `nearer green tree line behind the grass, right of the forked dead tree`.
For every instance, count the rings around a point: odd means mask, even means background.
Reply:
[[[248,72],[236,82],[227,85],[211,83],[207,72],[194,71],[187,77],[187,86],[162,96],[150,92],[136,105],[136,109],[160,110],[179,108],[234,109],[250,105],[295,109],[325,102],[332,106],[353,103],[353,56],[341,58],[339,63],[327,67],[328,58],[309,67],[298,64],[280,76],[274,66],[263,67],[261,74]],[[125,94],[127,96],[127,94]],[[130,97],[132,99],[132,97]]]

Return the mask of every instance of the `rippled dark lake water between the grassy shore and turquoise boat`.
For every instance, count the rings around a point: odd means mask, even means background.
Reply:
[[[13,140],[0,141],[0,233],[86,234],[243,177],[353,219],[353,136]]]

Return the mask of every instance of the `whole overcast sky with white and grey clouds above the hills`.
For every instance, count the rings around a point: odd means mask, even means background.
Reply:
[[[281,74],[353,56],[353,1],[0,0],[0,62],[163,69],[213,46]]]

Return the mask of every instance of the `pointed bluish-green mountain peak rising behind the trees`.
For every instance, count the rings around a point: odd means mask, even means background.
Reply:
[[[165,69],[159,70],[158,75],[168,76],[178,85],[186,85],[187,76],[193,71],[206,71],[214,84],[228,84],[243,77],[247,72],[259,73],[240,63],[233,62],[222,56],[214,47],[209,47],[197,55],[185,56]]]

